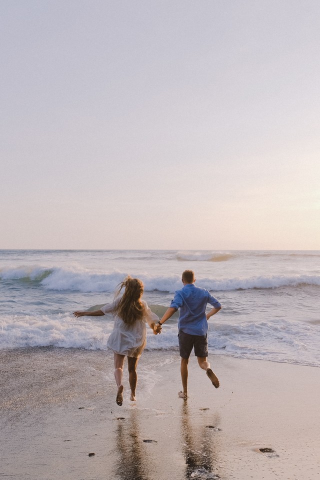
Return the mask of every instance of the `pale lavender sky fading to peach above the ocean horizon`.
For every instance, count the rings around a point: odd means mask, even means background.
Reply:
[[[320,249],[319,0],[0,0],[0,248]]]

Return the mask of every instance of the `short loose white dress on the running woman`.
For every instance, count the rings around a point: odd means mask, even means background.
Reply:
[[[119,299],[112,303],[103,305],[101,311],[110,313]],[[118,315],[114,317],[113,331],[107,340],[107,346],[115,353],[132,357],[139,357],[146,345],[146,327],[151,323],[156,323],[159,317],[148,307],[146,301],[141,300],[144,306],[144,315],[140,320],[136,320],[132,325],[124,323]]]

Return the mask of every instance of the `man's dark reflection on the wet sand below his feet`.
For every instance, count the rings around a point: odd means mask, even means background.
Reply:
[[[192,430],[189,408],[184,401],[181,410],[182,453],[185,459],[185,480],[201,478],[218,480],[219,475],[214,472],[216,452],[212,432],[204,425]]]

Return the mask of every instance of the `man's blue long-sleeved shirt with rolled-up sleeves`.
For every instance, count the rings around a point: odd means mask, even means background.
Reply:
[[[180,310],[178,329],[190,335],[205,335],[208,322],[205,316],[206,304],[219,308],[221,303],[205,288],[187,283],[176,290],[170,307]]]

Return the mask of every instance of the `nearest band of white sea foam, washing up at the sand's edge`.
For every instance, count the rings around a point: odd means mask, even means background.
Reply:
[[[70,314],[50,316],[2,315],[1,348],[58,346],[105,350],[113,321]],[[317,325],[273,319],[270,322],[226,321],[209,324],[209,353],[320,366]],[[265,341],[267,338],[267,341]],[[177,323],[166,323],[160,335],[147,329],[147,349],[177,351]],[[177,352],[178,354],[178,352]]]

